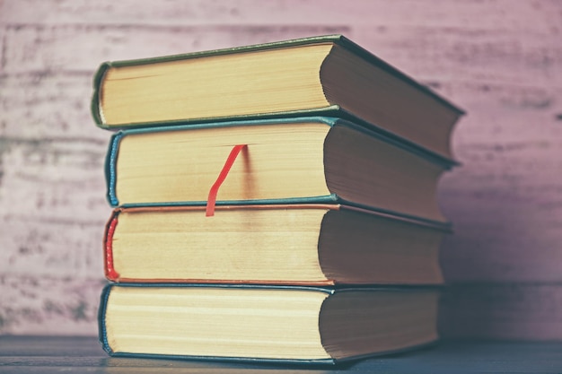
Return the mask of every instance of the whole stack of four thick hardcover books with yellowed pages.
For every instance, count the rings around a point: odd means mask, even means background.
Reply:
[[[340,35],[102,64],[110,354],[337,362],[438,338],[461,109]]]

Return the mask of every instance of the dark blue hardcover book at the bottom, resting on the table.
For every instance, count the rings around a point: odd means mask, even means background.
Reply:
[[[110,284],[100,340],[113,356],[336,363],[438,338],[439,290]]]

